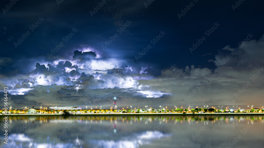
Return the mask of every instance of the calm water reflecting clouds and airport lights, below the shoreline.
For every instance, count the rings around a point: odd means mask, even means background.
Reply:
[[[263,115],[9,115],[0,147],[264,147]]]

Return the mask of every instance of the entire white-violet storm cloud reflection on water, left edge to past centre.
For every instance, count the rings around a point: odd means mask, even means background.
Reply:
[[[145,131],[140,134],[133,134],[131,136],[122,137],[119,140],[89,140],[89,145],[92,147],[104,148],[137,148],[141,145],[149,144],[152,140],[169,137],[171,134],[163,134],[160,131]],[[1,137],[3,139],[3,137]],[[56,142],[52,144],[50,141],[39,143],[36,139],[29,138],[25,134],[10,134],[8,136],[8,145],[1,146],[3,148],[21,148],[21,147],[37,147],[37,148],[81,148],[85,144],[83,140],[78,139],[67,140],[67,143]]]

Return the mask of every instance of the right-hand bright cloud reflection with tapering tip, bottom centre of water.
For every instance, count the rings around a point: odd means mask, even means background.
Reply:
[[[171,134],[163,134],[160,131],[146,131],[141,134],[123,137],[120,140],[90,140],[93,147],[103,148],[137,148],[141,145],[149,144],[151,140],[169,137]]]

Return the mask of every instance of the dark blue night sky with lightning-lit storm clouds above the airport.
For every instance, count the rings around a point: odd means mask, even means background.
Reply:
[[[13,3],[0,2],[13,109],[264,105],[261,1]]]

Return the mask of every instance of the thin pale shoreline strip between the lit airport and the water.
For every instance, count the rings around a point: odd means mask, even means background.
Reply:
[[[35,116],[35,115],[62,115],[62,114],[1,114],[1,116]],[[164,116],[170,116],[170,115],[181,115],[181,116],[200,116],[200,115],[220,115],[220,116],[225,116],[225,115],[262,115],[264,116],[264,113],[93,113],[93,114],[72,114],[73,116],[83,116],[83,115],[91,115],[91,116],[97,116],[97,115],[104,115],[104,116],[149,116],[149,115],[164,115]]]

